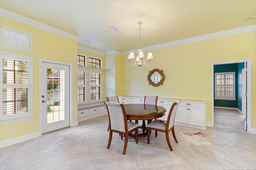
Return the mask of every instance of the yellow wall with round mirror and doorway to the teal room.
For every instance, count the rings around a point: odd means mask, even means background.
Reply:
[[[143,50],[143,48],[142,48]],[[149,51],[144,51],[146,56]],[[252,128],[256,128],[256,31],[156,49],[150,66],[130,67],[125,63],[123,96],[157,95],[159,98],[205,100],[206,121],[211,122],[211,63],[251,59]],[[163,70],[164,84],[148,84],[148,72]],[[201,87],[196,84],[200,83]],[[120,94],[118,94],[120,95]]]

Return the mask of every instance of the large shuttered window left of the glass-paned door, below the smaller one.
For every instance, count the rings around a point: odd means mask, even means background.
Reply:
[[[32,58],[2,55],[0,123],[32,118]]]

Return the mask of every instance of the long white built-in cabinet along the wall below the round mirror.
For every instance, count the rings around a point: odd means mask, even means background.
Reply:
[[[122,104],[143,104],[144,97],[126,97],[118,96],[118,100]],[[166,114],[158,119],[167,120],[168,113],[172,104],[176,100],[174,99],[161,99],[158,98],[157,105],[163,106],[166,109]],[[194,100],[182,100],[178,106],[175,124],[184,125],[189,127],[196,127],[200,129],[206,129],[206,102],[194,101]]]

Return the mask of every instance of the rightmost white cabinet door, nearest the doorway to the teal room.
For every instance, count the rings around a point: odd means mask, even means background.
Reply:
[[[189,107],[188,114],[190,125],[205,126],[204,108]]]

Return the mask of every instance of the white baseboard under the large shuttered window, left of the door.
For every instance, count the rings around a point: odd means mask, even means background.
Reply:
[[[24,141],[34,139],[34,138],[37,138],[37,137],[40,137],[39,132],[30,133],[30,134],[27,134],[27,135],[23,135],[23,136],[20,136],[20,137],[15,137],[15,138],[8,139],[8,140],[5,140],[5,141],[0,141],[0,148],[7,147],[7,146],[10,146],[10,145],[14,145],[16,143],[24,142]]]

